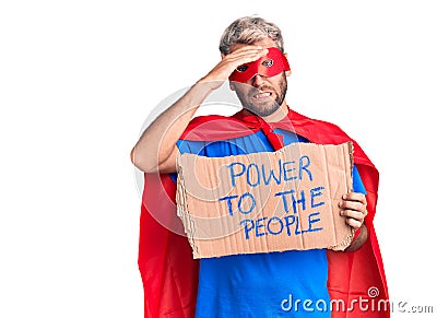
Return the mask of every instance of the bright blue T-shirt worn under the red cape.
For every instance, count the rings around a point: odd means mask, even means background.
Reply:
[[[293,132],[276,129],[284,144],[308,142]],[[223,141],[180,140],[181,153],[209,157],[274,151],[262,131]],[[365,193],[353,169],[355,192]],[[200,260],[196,317],[330,317],[328,259],[324,249],[233,255]],[[314,311],[304,302],[312,302]],[[317,310],[316,304],[328,310]],[[309,303],[307,303],[309,304]],[[308,307],[308,306],[306,306]],[[321,307],[321,306],[320,306]]]

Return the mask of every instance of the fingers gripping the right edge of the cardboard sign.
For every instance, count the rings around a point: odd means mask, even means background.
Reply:
[[[340,214],[346,217],[346,223],[354,228],[359,228],[367,215],[366,196],[358,192],[350,192],[343,196],[340,201]]]

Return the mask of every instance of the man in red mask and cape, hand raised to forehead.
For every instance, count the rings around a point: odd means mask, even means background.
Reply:
[[[356,142],[354,191],[344,193],[340,205],[341,215],[357,232],[344,252],[315,249],[227,256],[202,259],[198,268],[188,256],[186,239],[166,233],[151,217],[175,213],[174,207],[163,212],[167,209],[156,199],[161,198],[156,187],[165,189],[162,198],[174,196],[178,152],[225,156],[274,151],[292,142],[351,140],[331,123],[288,109],[285,94],[291,70],[276,25],[260,17],[238,19],[225,30],[220,50],[222,60],[150,125],[131,153],[133,164],[145,173],[139,263],[146,317],[191,317],[194,313],[197,317],[362,317],[363,311],[366,317],[388,317],[381,308],[351,308],[351,301],[368,297],[370,287],[377,288],[379,298],[388,298],[373,227],[378,172]],[[192,119],[227,79],[244,109],[231,118]],[[152,231],[161,234],[152,237]],[[295,301],[307,301],[305,308]],[[332,308],[331,301],[344,306]]]

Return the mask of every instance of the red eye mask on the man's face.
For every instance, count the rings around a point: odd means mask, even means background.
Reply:
[[[286,57],[276,47],[270,47],[267,56],[247,64],[239,66],[229,76],[229,81],[246,83],[256,74],[274,76],[282,71],[290,71]]]

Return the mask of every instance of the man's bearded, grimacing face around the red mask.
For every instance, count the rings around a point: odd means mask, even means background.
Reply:
[[[255,45],[265,48],[275,47],[271,38],[255,43]],[[237,44],[233,50],[241,47]],[[275,113],[284,103],[287,90],[285,72],[280,72],[273,76],[256,74],[245,83],[232,82],[231,86],[235,90],[243,107],[251,113],[267,117]]]

